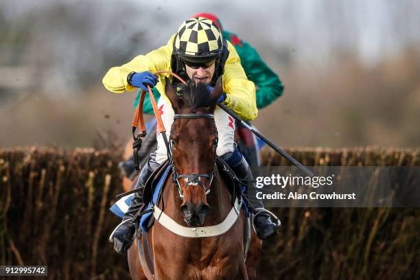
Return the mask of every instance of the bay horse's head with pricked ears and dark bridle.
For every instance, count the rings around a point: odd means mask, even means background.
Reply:
[[[190,226],[200,226],[209,213],[207,194],[213,181],[218,131],[214,110],[222,94],[222,79],[209,93],[202,83],[188,82],[178,96],[170,82],[165,82],[175,117],[171,128],[170,152],[180,198],[181,211]]]

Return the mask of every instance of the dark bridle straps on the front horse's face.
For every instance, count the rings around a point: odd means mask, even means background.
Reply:
[[[175,114],[174,115],[174,121],[176,119],[213,119],[214,120],[214,115],[213,114]],[[211,172],[209,173],[190,173],[190,174],[178,174],[178,172],[176,172],[176,167],[174,164],[174,159],[172,157],[172,149],[173,146],[175,145],[175,141],[174,140],[170,140],[169,141],[169,145],[168,145],[168,159],[170,159],[170,165],[172,167],[172,179],[174,180],[174,183],[176,183],[176,186],[178,187],[178,193],[179,193],[179,197],[180,199],[184,198],[184,194],[183,191],[181,189],[180,183],[179,183],[179,179],[180,178],[185,178],[186,182],[185,182],[185,187],[188,187],[189,185],[200,185],[200,187],[202,187],[202,189],[205,190],[206,195],[210,193],[210,186],[211,183],[213,182],[213,178],[214,178],[214,167],[213,170],[211,170]],[[213,160],[213,166],[215,165],[215,149],[218,146],[218,137],[215,139],[215,141],[213,142],[212,147],[214,148],[214,160]],[[204,183],[202,183],[201,178],[207,178],[209,179],[210,183],[209,183],[209,189],[206,189]]]

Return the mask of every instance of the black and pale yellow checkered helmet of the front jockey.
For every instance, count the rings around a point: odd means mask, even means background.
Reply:
[[[222,53],[222,34],[213,21],[194,17],[180,25],[174,45],[175,54],[183,59],[209,60]]]

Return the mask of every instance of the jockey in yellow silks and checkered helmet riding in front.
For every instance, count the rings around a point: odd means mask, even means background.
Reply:
[[[199,16],[183,22],[167,45],[144,56],[137,56],[121,67],[111,68],[102,82],[106,89],[115,93],[133,91],[136,88],[147,91],[148,85],[156,87],[162,97],[158,107],[163,124],[165,128],[170,128],[174,121],[174,110],[165,96],[164,84],[165,76],[168,77],[169,74],[153,74],[163,70],[172,71],[184,80],[203,82],[209,86],[215,86],[215,81],[222,76],[224,94],[220,97],[220,102],[244,120],[249,121],[257,117],[255,85],[246,78],[235,48],[222,38],[213,21]],[[168,78],[172,80],[173,86],[177,86],[176,78]],[[215,109],[214,117],[219,135],[216,154],[226,161],[238,178],[252,181],[250,167],[233,141],[235,124],[232,117],[220,108]],[[170,132],[166,133],[169,139]],[[166,146],[163,136],[159,133],[157,150],[141,170],[136,188],[143,188],[147,178],[166,159]],[[139,191],[132,198],[123,220],[132,220],[142,206],[142,191]],[[256,213],[254,223],[258,237],[266,240],[276,235],[276,224],[271,221],[270,215],[255,212],[255,209],[264,208],[261,200],[253,200],[249,206],[251,211]],[[112,236],[115,250],[125,253],[132,244],[134,234],[135,225],[132,222],[121,223]]]

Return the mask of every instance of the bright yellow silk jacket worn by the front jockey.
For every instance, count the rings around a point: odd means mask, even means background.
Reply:
[[[175,34],[170,38],[166,45],[150,51],[146,55],[135,57],[133,60],[120,67],[113,67],[106,73],[102,82],[108,91],[114,93],[124,93],[133,91],[135,88],[127,82],[127,76],[131,72],[150,71],[171,71],[171,56]],[[242,68],[240,57],[237,55],[235,47],[227,42],[229,57],[224,65],[222,80],[223,91],[226,93],[226,100],[223,104],[233,110],[237,115],[246,121],[253,120],[258,115],[257,103],[255,100],[255,85],[246,78]],[[165,76],[172,80],[169,74],[159,74],[159,82],[156,89],[165,98]]]

